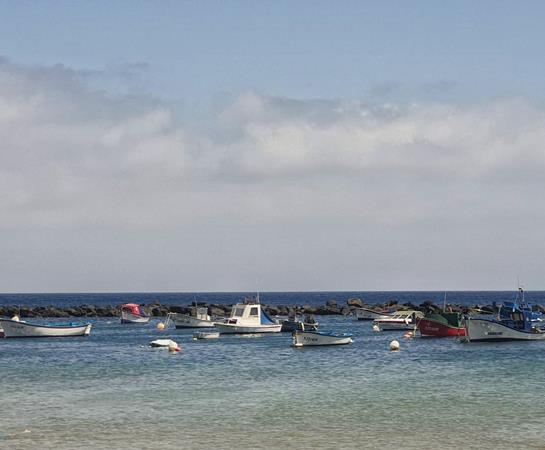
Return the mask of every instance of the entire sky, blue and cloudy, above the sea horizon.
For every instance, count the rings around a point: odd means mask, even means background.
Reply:
[[[0,292],[545,289],[543,23],[0,1]]]

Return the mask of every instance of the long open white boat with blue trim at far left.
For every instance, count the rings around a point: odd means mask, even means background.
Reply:
[[[0,327],[4,330],[5,338],[18,337],[73,337],[88,336],[91,333],[91,324],[37,324],[20,320],[15,316],[11,319],[0,319]]]

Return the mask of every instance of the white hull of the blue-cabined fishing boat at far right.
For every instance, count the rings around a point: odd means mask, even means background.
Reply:
[[[545,340],[544,332],[516,330],[489,319],[466,319],[465,329],[467,342]]]

